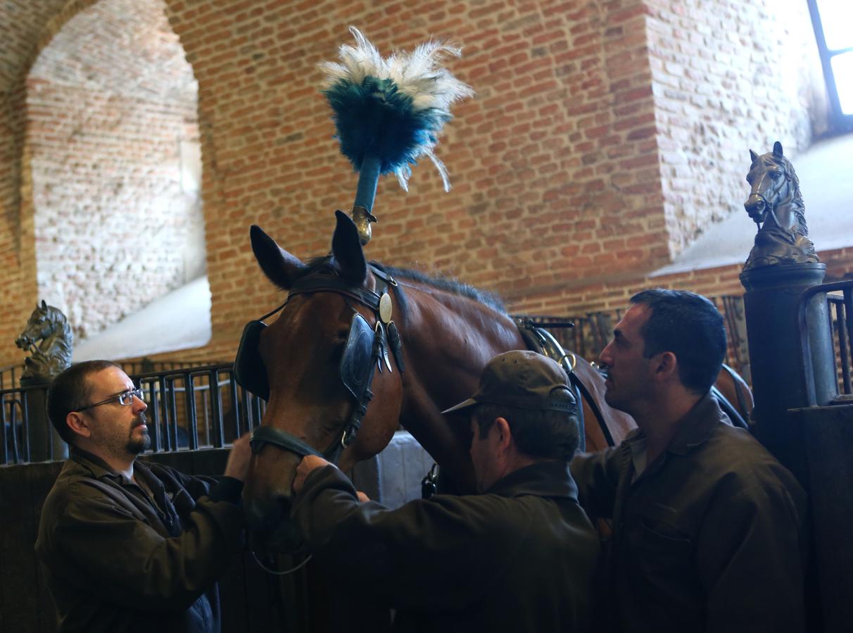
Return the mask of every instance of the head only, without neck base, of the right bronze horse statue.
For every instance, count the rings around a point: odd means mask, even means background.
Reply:
[[[782,155],[782,145],[776,141],[773,151],[760,156],[749,150],[751,166],[746,182],[751,191],[744,208],[757,224],[772,218],[781,229],[792,230],[798,223],[793,212],[776,212],[780,206],[797,202],[799,187],[791,161]],[[800,199],[801,200],[801,199]]]

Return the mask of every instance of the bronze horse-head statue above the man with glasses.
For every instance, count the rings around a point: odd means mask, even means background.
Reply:
[[[40,341],[40,343],[39,343]],[[38,345],[37,345],[38,343]],[[74,335],[64,314],[44,300],[36,305],[15,345],[32,355],[24,361],[21,380],[47,382],[71,365]]]

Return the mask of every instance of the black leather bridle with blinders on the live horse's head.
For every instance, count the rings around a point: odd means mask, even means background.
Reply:
[[[299,456],[316,455],[323,457],[328,462],[336,462],[340,452],[352,444],[356,438],[358,429],[362,424],[362,418],[373,398],[370,385],[373,381],[374,369],[379,367],[381,372],[382,363],[385,363],[388,371],[393,371],[388,359],[389,347],[397,363],[397,369],[403,372],[403,348],[397,326],[392,319],[392,300],[388,293],[391,287],[397,286],[397,282],[384,270],[373,265],[370,265],[369,268],[376,278],[377,288],[375,291],[353,286],[339,276],[307,275],[293,283],[293,287],[287,294],[287,300],[279,305],[276,310],[255,321],[248,322],[243,328],[240,346],[235,357],[234,378],[239,385],[258,398],[269,400],[269,378],[258,351],[260,335],[267,327],[264,323],[265,318],[283,310],[287,302],[298,294],[323,292],[336,293],[346,299],[353,299],[367,306],[376,317],[376,324],[374,328],[371,328],[364,317],[353,309],[355,314],[352,317],[350,333],[347,336],[344,353],[340,359],[339,373],[347,391],[355,399],[355,404],[340,437],[335,438],[332,444],[321,453],[292,433],[275,427],[256,427],[252,430],[250,439],[252,452],[258,453],[264,448],[265,444],[272,444]]]

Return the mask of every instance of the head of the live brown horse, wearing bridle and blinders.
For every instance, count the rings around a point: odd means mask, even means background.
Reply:
[[[302,456],[322,454],[347,470],[382,450],[397,429],[403,387],[387,353],[392,284],[368,265],[356,225],[342,212],[332,253],[310,264],[257,226],[251,236],[261,270],[288,295],[269,327],[248,336],[247,327],[235,362],[235,371],[252,372],[256,392],[268,389],[257,394],[268,404],[252,436],[243,501],[256,536],[287,550],[299,544],[287,516]],[[389,304],[381,317],[380,302]]]

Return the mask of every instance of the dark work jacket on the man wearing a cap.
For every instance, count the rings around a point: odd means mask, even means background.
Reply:
[[[589,630],[598,538],[566,462],[396,510],[359,503],[328,466],[310,473],[292,514],[334,590],[396,609],[394,630]]]

